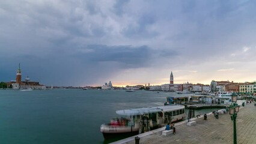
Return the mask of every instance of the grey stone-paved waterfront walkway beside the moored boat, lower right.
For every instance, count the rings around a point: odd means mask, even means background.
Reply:
[[[241,109],[242,108],[242,109]],[[228,113],[219,114],[219,119],[207,115],[207,121],[201,118],[195,119],[196,125],[187,126],[186,122],[177,124],[176,134],[162,136],[162,131],[155,131],[149,135],[139,135],[141,144],[150,143],[233,143],[233,121]],[[237,143],[256,143],[256,107],[254,103],[240,106],[240,112],[236,119]],[[129,142],[118,141],[116,143],[134,144],[134,137]]]

